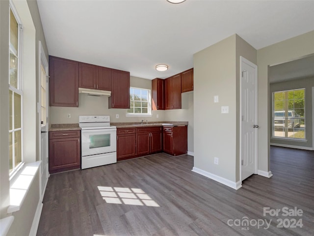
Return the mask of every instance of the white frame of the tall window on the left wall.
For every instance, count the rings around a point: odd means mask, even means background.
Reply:
[[[24,118],[24,115],[23,115],[23,71],[22,71],[22,63],[23,63],[23,25],[22,25],[22,22],[21,22],[21,19],[19,17],[19,14],[17,13],[17,10],[15,9],[14,7],[14,4],[9,3],[9,11],[12,11],[15,19],[16,19],[16,22],[18,23],[19,25],[19,29],[18,29],[18,51],[16,52],[14,50],[14,47],[11,45],[10,43],[10,39],[9,39],[9,53],[10,52],[13,52],[15,54],[15,56],[17,56],[17,59],[18,59],[18,67],[17,67],[17,70],[18,70],[18,81],[17,81],[17,87],[18,88],[14,88],[13,86],[10,85],[10,78],[8,78],[8,84],[9,84],[9,90],[11,90],[12,92],[14,93],[17,93],[21,96],[21,128],[14,128],[12,130],[9,130],[9,133],[13,133],[12,134],[12,139],[14,140],[14,132],[16,131],[19,131],[21,130],[21,162],[15,166],[15,155],[14,155],[14,151],[15,151],[15,148],[14,148],[14,142],[12,142],[12,171],[9,173],[9,178],[10,180],[15,176],[15,174],[22,168],[22,166],[25,164],[24,162],[24,151],[23,151],[23,118]],[[9,18],[9,25],[10,25],[10,18]],[[9,56],[10,58],[10,56]],[[8,68],[10,70],[10,68]],[[14,96],[13,96],[13,99],[12,99],[12,103],[14,104]],[[14,106],[12,106],[12,113],[13,113],[13,118],[12,118],[12,125],[14,125]]]

